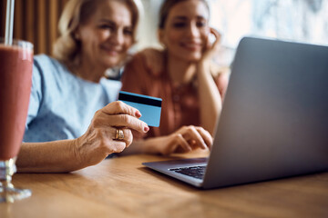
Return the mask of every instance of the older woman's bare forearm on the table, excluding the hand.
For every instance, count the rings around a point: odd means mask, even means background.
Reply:
[[[16,161],[18,172],[67,173],[83,168],[75,143],[75,140],[23,143]]]

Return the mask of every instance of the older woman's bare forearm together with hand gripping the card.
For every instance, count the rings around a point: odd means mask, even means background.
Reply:
[[[128,104],[108,104],[97,111],[86,134],[77,139],[22,144],[18,172],[66,173],[100,163],[108,154],[120,153],[132,143],[131,129],[149,131],[149,126],[138,120],[140,116]],[[117,139],[117,130],[123,131],[124,139]]]

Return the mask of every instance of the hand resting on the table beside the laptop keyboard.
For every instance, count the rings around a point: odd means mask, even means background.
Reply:
[[[213,139],[208,131],[199,126],[182,126],[158,144],[159,154],[188,153],[197,148],[210,149]]]

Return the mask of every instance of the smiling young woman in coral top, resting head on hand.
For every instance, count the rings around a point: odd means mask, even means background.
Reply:
[[[165,0],[159,12],[159,42],[127,64],[122,90],[163,99],[159,128],[134,133],[127,152],[171,154],[210,148],[228,75],[211,62],[220,34],[209,26],[205,0]],[[210,35],[215,42],[210,43]],[[200,127],[201,126],[201,127]]]

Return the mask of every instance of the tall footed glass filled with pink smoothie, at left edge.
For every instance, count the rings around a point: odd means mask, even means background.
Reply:
[[[11,181],[25,132],[32,67],[32,44],[14,40],[5,45],[0,38],[0,202],[31,196],[30,190],[17,189]]]

